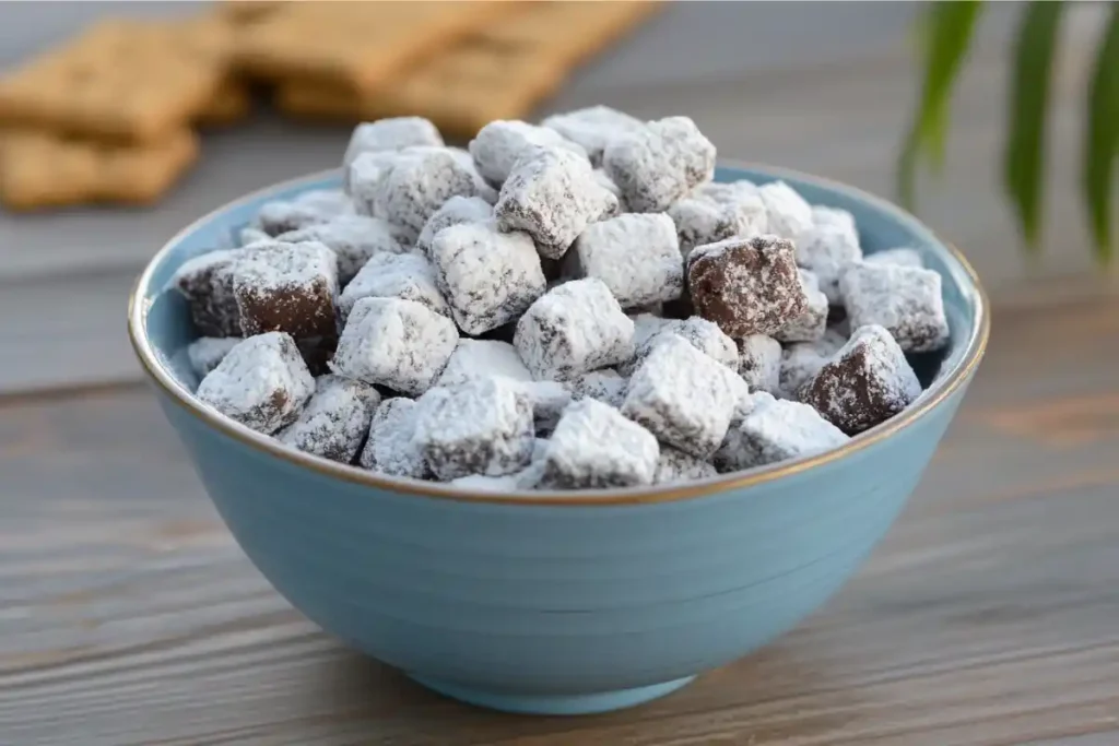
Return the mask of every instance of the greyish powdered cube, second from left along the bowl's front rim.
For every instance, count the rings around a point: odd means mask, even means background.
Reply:
[[[367,384],[320,376],[299,419],[276,438],[305,453],[348,464],[361,447],[378,404],[380,395]]]

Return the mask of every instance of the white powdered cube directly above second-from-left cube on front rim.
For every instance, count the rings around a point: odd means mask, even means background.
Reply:
[[[350,310],[330,369],[346,378],[419,395],[454,352],[459,331],[414,301],[363,298]]]

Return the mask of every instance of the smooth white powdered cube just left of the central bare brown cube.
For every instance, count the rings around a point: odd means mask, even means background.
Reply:
[[[674,301],[684,291],[676,226],[664,213],[627,214],[590,225],[572,251],[580,273],[604,282],[622,308]]]

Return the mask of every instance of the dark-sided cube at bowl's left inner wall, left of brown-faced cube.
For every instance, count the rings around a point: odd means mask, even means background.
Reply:
[[[241,252],[220,249],[187,259],[171,277],[190,304],[190,318],[204,337],[241,337],[241,311],[233,294],[233,273]]]

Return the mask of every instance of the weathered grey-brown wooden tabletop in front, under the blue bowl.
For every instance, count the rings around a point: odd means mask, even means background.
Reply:
[[[1119,743],[1119,303],[998,314],[913,502],[761,653],[643,708],[441,699],[292,611],[142,389],[0,404],[0,744]]]

